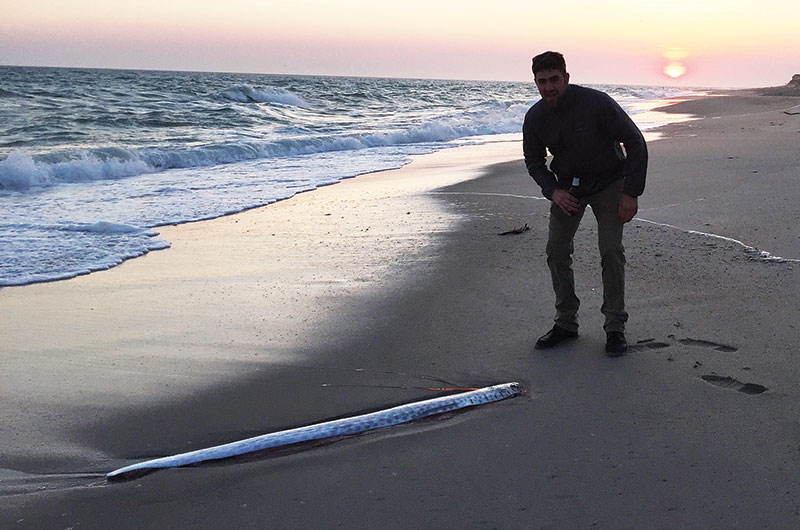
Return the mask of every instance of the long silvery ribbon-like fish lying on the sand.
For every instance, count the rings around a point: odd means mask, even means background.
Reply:
[[[274,447],[292,445],[335,436],[349,436],[366,431],[407,423],[434,414],[442,414],[466,407],[484,405],[500,401],[519,394],[522,391],[519,383],[504,383],[464,392],[452,396],[443,396],[416,403],[400,405],[369,414],[352,416],[338,420],[316,423],[305,427],[297,427],[284,431],[263,434],[224,445],[199,449],[154,460],[147,460],[126,466],[106,475],[108,480],[127,480],[143,473],[169,467],[180,467],[211,460],[220,460],[240,456]]]

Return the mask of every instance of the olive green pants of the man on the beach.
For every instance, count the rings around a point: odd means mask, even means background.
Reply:
[[[625,248],[622,246],[622,227],[619,219],[619,200],[623,180],[619,179],[603,191],[580,198],[578,212],[567,215],[555,203],[550,206],[550,234],[547,240],[547,266],[556,294],[556,324],[569,331],[578,330],[578,307],[575,278],[572,273],[573,239],[583,218],[586,206],[592,207],[597,219],[597,239],[600,263],[603,268],[603,328],[625,331],[628,313],[625,312]]]

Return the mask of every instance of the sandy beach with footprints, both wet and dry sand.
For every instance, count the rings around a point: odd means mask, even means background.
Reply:
[[[603,355],[589,215],[581,337],[533,349],[553,317],[549,202],[514,142],[165,227],[169,250],[0,289],[0,528],[797,528],[800,97],[664,110],[698,119],[649,144],[619,359]],[[434,381],[527,393],[104,479],[439,395]]]

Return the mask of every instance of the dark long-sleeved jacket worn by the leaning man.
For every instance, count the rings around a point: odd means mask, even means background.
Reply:
[[[525,115],[522,146],[528,173],[548,199],[557,188],[569,187],[575,176],[581,179],[581,196],[620,178],[625,179],[623,193],[638,197],[644,192],[644,137],[619,104],[599,90],[567,85],[557,108],[537,102]],[[545,148],[553,155],[549,169]]]

